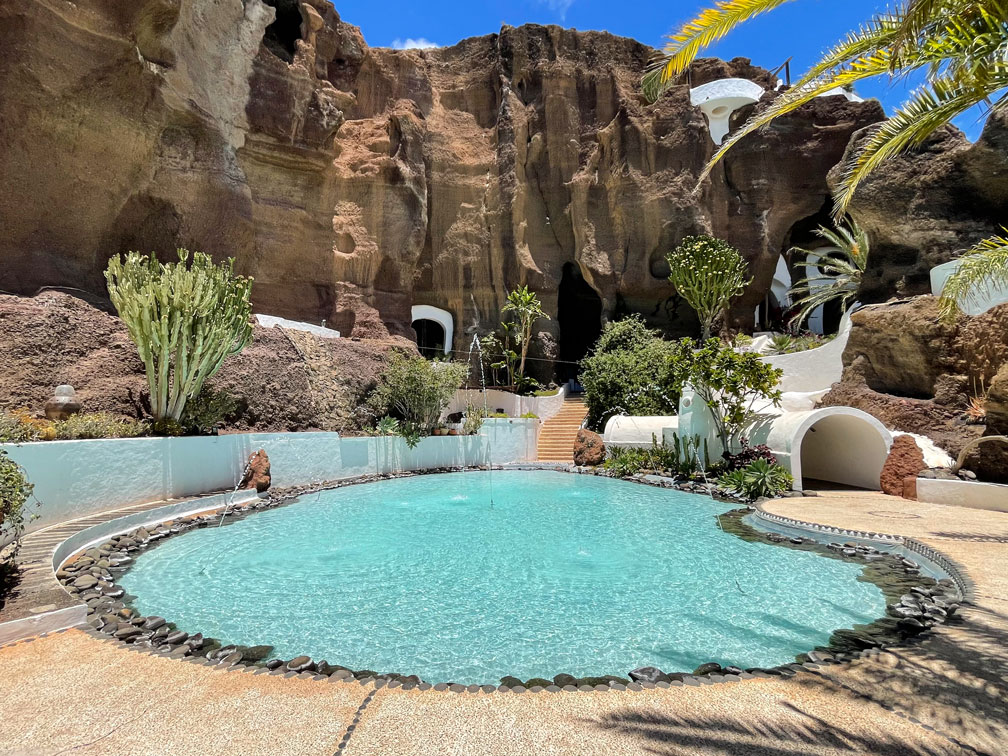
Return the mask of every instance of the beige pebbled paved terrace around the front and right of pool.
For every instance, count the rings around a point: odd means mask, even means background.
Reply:
[[[792,678],[641,691],[469,694],[228,671],[80,630],[0,647],[18,754],[989,754],[1008,752],[1008,514],[825,492],[770,511],[910,535],[974,605],[927,640]]]

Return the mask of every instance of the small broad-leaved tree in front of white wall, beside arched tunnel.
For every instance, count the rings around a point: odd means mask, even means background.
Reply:
[[[730,449],[756,408],[769,401],[780,406],[783,371],[763,362],[752,352],[736,352],[720,339],[709,339],[699,349],[680,353],[689,360],[689,384],[711,408],[714,424],[725,449]]]

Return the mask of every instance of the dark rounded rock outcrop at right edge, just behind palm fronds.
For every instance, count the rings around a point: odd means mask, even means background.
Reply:
[[[865,137],[862,132],[852,141]],[[839,178],[835,169],[831,181]],[[990,115],[971,144],[954,126],[892,158],[855,193],[850,213],[871,239],[859,298],[930,291],[929,272],[1000,232],[1008,209],[1008,113]]]

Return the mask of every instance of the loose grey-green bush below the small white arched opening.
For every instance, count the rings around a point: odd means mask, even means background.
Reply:
[[[466,380],[466,365],[428,361],[395,352],[368,399],[376,415],[391,415],[417,434],[428,434],[456,390]]]

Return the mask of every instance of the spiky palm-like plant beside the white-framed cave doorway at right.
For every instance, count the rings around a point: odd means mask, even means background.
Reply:
[[[788,292],[797,297],[794,305],[799,309],[791,320],[795,326],[800,326],[817,307],[837,299],[847,311],[858,293],[868,262],[868,234],[854,221],[842,223],[836,230],[820,226],[815,229],[815,236],[834,249],[823,255],[814,249],[791,247],[790,250],[792,254],[804,255],[805,258],[797,265],[805,269],[806,275],[796,281]]]

